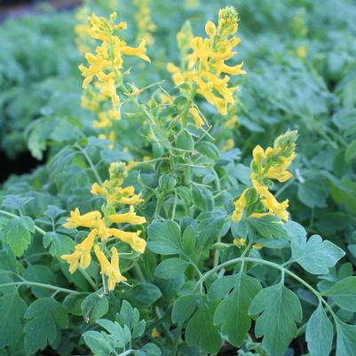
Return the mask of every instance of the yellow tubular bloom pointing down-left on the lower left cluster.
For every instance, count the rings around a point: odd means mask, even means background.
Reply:
[[[91,230],[91,233],[81,242],[75,245],[75,251],[71,255],[62,255],[61,258],[69,264],[69,272],[75,273],[79,261],[83,269],[91,265],[91,248],[98,230]]]

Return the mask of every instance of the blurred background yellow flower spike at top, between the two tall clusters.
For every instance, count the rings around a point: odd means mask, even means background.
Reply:
[[[149,7],[150,0],[133,0],[133,4],[137,7],[135,12],[135,20],[138,27],[137,40],[142,38],[147,44],[154,44],[154,36],[152,34],[156,30],[151,16],[151,9]]]

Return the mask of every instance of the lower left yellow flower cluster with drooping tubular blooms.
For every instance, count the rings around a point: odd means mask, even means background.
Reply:
[[[119,241],[128,243],[131,249],[143,253],[146,249],[146,241],[139,237],[140,230],[136,232],[126,232],[122,229],[111,227],[113,224],[131,224],[142,225],[146,223],[146,218],[136,215],[134,205],[143,202],[140,194],[135,194],[133,186],[123,187],[123,181],[127,176],[125,164],[122,162],[113,162],[109,168],[109,179],[103,186],[94,183],[91,186],[91,194],[100,194],[105,200],[102,211],[90,211],[81,214],[78,208],[71,211],[70,218],[64,224],[68,229],[85,227],[90,229],[87,237],[77,245],[70,255],[61,256],[69,264],[69,272],[75,273],[78,265],[86,269],[91,265],[91,249],[94,248],[96,257],[99,260],[101,273],[107,275],[108,289],[115,289],[115,284],[126,281],[126,278],[119,270],[119,255],[117,249],[112,247],[111,263],[107,260],[105,253],[99,248],[105,248],[108,238],[114,237]],[[129,205],[129,210],[125,212],[116,212],[117,207]],[[97,239],[98,238],[98,239]],[[96,241],[97,240],[97,241]]]

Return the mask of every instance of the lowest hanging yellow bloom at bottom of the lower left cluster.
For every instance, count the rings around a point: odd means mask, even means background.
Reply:
[[[105,254],[100,251],[98,245],[95,245],[94,252],[99,260],[101,273],[107,275],[107,287],[109,290],[114,290],[116,283],[127,281],[127,279],[120,273],[119,254],[115,247],[110,249],[111,262],[109,262]]]

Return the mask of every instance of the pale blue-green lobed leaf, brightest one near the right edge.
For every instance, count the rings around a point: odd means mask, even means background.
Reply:
[[[326,274],[329,268],[344,257],[343,249],[334,243],[322,240],[319,235],[312,235],[308,241],[302,234],[291,239],[292,259],[305,271],[312,274]]]

